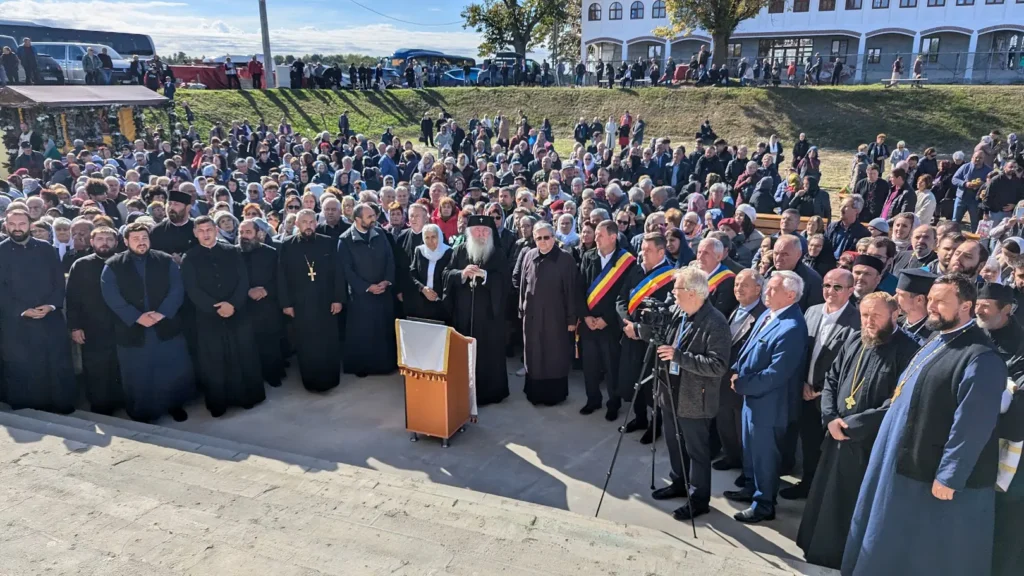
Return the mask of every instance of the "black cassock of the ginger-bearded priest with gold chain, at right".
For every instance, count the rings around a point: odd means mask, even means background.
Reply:
[[[892,398],[900,374],[919,347],[911,336],[898,328],[887,342],[868,348],[861,342],[860,332],[855,332],[825,374],[821,392],[822,425],[827,427],[831,420],[843,418],[849,426],[844,433],[850,440],[839,442],[825,431],[821,460],[797,534],[797,545],[804,550],[808,562],[837,570],[842,565],[860,483],[886,414],[883,404],[888,407],[887,401]],[[858,387],[853,395],[855,404],[848,407],[854,373]]]

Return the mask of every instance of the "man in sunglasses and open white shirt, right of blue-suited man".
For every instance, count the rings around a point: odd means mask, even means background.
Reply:
[[[797,403],[799,422],[793,429],[799,430],[804,455],[804,476],[800,484],[779,491],[786,500],[806,498],[814,480],[814,470],[821,458],[821,439],[825,430],[821,427],[821,389],[824,387],[825,373],[831,366],[840,349],[851,334],[860,330],[860,314],[850,301],[853,294],[853,275],[849,271],[836,269],[825,275],[821,285],[824,303],[816,304],[804,313],[807,323],[807,374],[801,386]],[[799,385],[799,384],[798,384]],[[798,434],[786,435],[786,453],[795,453]],[[783,458],[785,459],[785,458]]]

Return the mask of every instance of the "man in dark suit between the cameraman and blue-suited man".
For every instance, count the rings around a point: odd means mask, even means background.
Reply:
[[[737,305],[729,316],[729,332],[732,334],[729,366],[732,366],[739,358],[739,351],[746,343],[751,330],[758,318],[761,318],[761,315],[767,310],[761,302],[761,287],[764,286],[764,277],[756,270],[748,269],[736,275],[733,293],[736,296]],[[716,470],[743,467],[743,397],[732,389],[731,376],[732,374],[726,374],[722,378],[720,386],[716,424],[718,437],[722,441],[724,456],[712,464]]]

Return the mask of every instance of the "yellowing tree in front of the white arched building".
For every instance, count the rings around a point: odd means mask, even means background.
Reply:
[[[712,63],[724,65],[729,38],[739,23],[758,15],[769,0],[665,0],[670,26],[654,29],[663,38],[707,30],[712,39]]]

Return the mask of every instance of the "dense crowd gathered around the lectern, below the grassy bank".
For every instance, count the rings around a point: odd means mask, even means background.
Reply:
[[[201,396],[216,417],[286,363],[312,392],[392,373],[394,319],[428,319],[476,338],[481,406],[517,357],[536,406],[577,367],[581,414],[632,401],[623,431],[664,433],[673,483],[652,497],[686,498],[680,521],[736,469],[738,522],[806,498],[798,543],[844,574],[1019,572],[1013,134],[970,161],[880,134],[829,193],[804,134],[749,148],[705,122],[688,151],[626,112],[581,118],[563,158],[521,111],[421,128],[425,146],[371,138],[343,113],[334,135],[243,121],[48,158],[23,126],[0,182],[0,398],[67,413],[84,389],[151,421]],[[673,304],[658,398],[638,383],[652,301]]]

